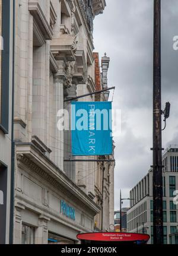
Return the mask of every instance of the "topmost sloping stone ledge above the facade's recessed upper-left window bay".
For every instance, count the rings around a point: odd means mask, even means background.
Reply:
[[[29,1],[28,10],[30,11],[31,15],[33,15],[33,18],[36,21],[39,30],[42,32],[44,39],[51,40],[52,29],[50,28],[49,23],[47,22],[38,1]]]

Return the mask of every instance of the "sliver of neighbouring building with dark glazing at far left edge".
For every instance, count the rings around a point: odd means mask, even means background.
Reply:
[[[0,244],[11,230],[13,1],[0,1]]]

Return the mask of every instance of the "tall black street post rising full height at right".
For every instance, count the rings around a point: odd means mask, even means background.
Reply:
[[[153,66],[153,235],[154,244],[163,244],[163,148],[161,138],[161,0],[154,0]]]

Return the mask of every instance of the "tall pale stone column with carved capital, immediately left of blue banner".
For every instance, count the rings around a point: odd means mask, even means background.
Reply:
[[[54,75],[54,98],[53,98],[53,120],[54,120],[54,145],[53,148],[53,159],[55,164],[63,170],[63,131],[60,131],[57,127],[59,116],[58,111],[63,109],[63,83],[65,75],[56,73]]]

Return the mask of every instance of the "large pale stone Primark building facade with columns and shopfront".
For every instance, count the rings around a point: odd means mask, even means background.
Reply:
[[[15,2],[14,244],[74,244],[101,211],[98,164],[63,161],[74,157],[58,110],[95,90],[93,20],[106,2]]]

